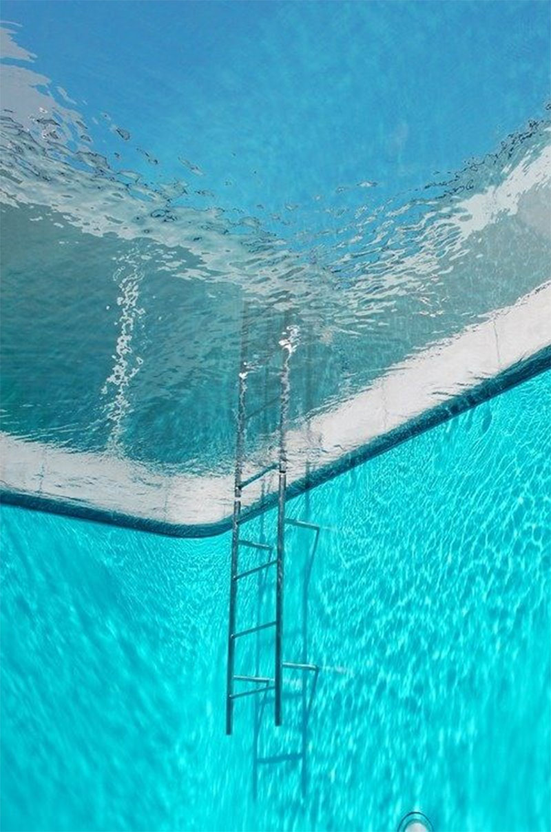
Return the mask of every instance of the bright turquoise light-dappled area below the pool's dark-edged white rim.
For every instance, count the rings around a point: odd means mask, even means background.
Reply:
[[[224,735],[229,536],[3,508],[2,829],[366,832],[421,807],[435,830],[549,830],[549,381],[289,504],[323,527],[304,798],[288,763],[253,800],[249,700]],[[294,707],[264,726],[282,753]]]

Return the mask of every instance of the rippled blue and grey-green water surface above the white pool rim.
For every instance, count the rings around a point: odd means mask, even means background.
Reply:
[[[544,3],[3,15],[12,435],[229,472],[244,300],[297,422],[549,280]]]

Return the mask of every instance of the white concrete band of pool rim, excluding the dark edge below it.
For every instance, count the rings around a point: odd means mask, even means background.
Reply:
[[[288,485],[330,468],[421,414],[551,346],[551,282],[387,370],[368,389],[288,432]],[[312,456],[315,448],[315,456]],[[233,474],[165,476],[108,453],[71,453],[0,434],[2,490],[174,526],[216,524],[232,513]],[[245,465],[244,478],[256,473]],[[245,507],[277,489],[268,473],[244,490]]]

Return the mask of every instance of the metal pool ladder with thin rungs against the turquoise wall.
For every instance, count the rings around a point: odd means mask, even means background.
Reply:
[[[244,315],[244,320],[246,316]],[[244,335],[242,337],[241,348],[241,368],[239,372],[239,399],[238,399],[238,418],[237,418],[237,441],[235,453],[235,478],[234,478],[234,513],[232,521],[232,549],[231,549],[231,576],[229,588],[229,628],[228,628],[228,666],[227,666],[227,686],[226,686],[226,734],[231,734],[234,726],[234,702],[237,699],[248,696],[265,696],[268,692],[273,691],[274,703],[274,722],[276,726],[281,726],[282,716],[282,688],[283,688],[283,670],[302,671],[303,673],[313,673],[314,681],[312,690],[315,689],[317,674],[319,668],[317,665],[310,664],[307,661],[294,662],[283,661],[283,562],[284,562],[284,542],[285,542],[285,524],[293,524],[299,527],[307,527],[312,529],[315,534],[315,546],[317,545],[317,536],[319,528],[312,523],[286,520],[285,518],[285,496],[287,488],[287,453],[285,447],[285,431],[288,417],[288,399],[289,399],[289,359],[291,349],[289,349],[288,341],[282,339],[280,345],[283,346],[283,366],[281,369],[281,394],[280,400],[280,414],[279,414],[279,453],[278,462],[271,463],[267,468],[254,474],[247,479],[242,478],[243,460],[244,460],[244,434],[247,414],[245,409],[245,399],[247,391],[247,375],[249,372],[246,359],[246,329],[244,325]],[[255,411],[256,412],[256,411]],[[274,546],[265,542],[256,542],[245,540],[240,536],[241,527],[241,499],[244,488],[263,478],[265,474],[270,471],[278,470],[278,526],[277,538]],[[258,552],[265,559],[256,566],[244,569],[239,572],[239,549],[241,547],[248,547]],[[257,622],[255,626],[247,627],[244,630],[236,631],[236,612],[238,602],[238,587],[239,582],[245,577],[254,573],[266,572],[270,569],[276,570],[276,587],[275,587],[275,618],[268,622]],[[273,630],[273,658],[274,671],[273,676],[259,676],[251,674],[244,676],[235,673],[235,643],[240,638],[258,634],[263,630]],[[245,689],[235,690],[234,683],[247,683]],[[311,701],[310,701],[311,705]],[[309,711],[309,706],[308,706]],[[256,745],[255,745],[256,748]],[[303,754],[305,750],[303,749]],[[288,759],[290,755],[281,755],[282,759]],[[297,755],[299,756],[299,755]],[[277,758],[273,760],[256,759],[258,763],[264,761],[277,762]]]

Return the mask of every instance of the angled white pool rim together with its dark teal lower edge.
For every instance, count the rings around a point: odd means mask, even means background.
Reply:
[[[289,426],[288,497],[549,369],[548,312],[551,283],[397,364],[337,407]],[[251,438],[246,440],[242,476],[254,482],[242,497],[244,517],[277,503],[277,465],[268,465],[277,443],[272,435],[264,442],[266,447],[252,453]],[[124,455],[75,453],[9,433],[0,433],[0,448],[0,499],[5,503],[174,537],[208,537],[231,527],[233,459],[219,459],[209,473],[167,476]],[[263,468],[267,473],[259,477]]]

